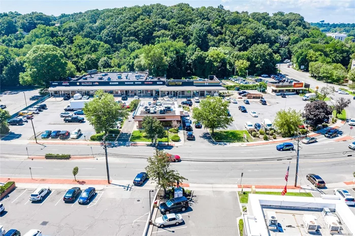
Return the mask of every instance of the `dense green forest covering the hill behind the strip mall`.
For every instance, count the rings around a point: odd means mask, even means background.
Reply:
[[[332,69],[346,76],[355,58],[354,37],[333,40],[296,13],[232,12],[161,4],[48,16],[0,14],[1,86],[49,86],[90,69],[146,70],[181,79],[276,72],[292,59],[296,68]],[[322,76],[319,76],[322,78]]]

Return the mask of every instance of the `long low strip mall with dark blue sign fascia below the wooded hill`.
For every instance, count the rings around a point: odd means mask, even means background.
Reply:
[[[76,93],[90,96],[97,90],[114,96],[181,98],[214,96],[226,89],[214,75],[198,80],[166,80],[164,77],[149,76],[147,72],[96,72],[72,81],[51,82],[49,88],[52,96],[73,96]]]

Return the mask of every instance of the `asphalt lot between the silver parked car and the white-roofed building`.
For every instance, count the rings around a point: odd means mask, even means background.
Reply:
[[[186,211],[175,212],[182,215],[183,223],[164,228],[153,226],[151,235],[238,235],[237,192],[194,191],[189,205]],[[158,212],[156,217],[160,216]]]

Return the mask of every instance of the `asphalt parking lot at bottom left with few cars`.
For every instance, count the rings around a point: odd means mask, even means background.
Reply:
[[[86,187],[82,186],[84,190]],[[40,202],[30,202],[34,189],[15,189],[1,201],[1,224],[24,234],[40,229],[43,235],[142,235],[149,209],[147,191],[96,190],[87,205],[64,203],[66,190],[51,190]],[[144,196],[144,197],[143,197]]]

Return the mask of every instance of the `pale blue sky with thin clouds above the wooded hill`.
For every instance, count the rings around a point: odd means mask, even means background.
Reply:
[[[329,23],[355,23],[355,0],[1,0],[0,12],[17,11],[21,14],[42,12],[47,15],[58,16],[62,13],[85,12],[92,9],[132,7],[135,5],[149,5],[160,3],[172,6],[178,3],[187,3],[191,7],[223,5],[230,11],[268,12],[282,11],[301,14],[308,22],[324,20]]]

